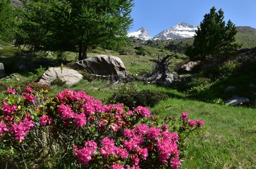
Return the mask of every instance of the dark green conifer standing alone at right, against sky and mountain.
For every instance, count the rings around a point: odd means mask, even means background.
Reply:
[[[187,48],[186,54],[192,60],[203,61],[208,55],[220,60],[240,47],[234,43],[234,35],[237,34],[234,24],[228,20],[225,25],[222,9],[215,11],[215,7],[212,7],[210,13],[204,15],[200,27],[195,31],[193,46]]]

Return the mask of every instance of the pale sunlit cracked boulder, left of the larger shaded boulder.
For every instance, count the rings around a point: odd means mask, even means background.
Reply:
[[[75,70],[67,68],[49,68],[40,79],[39,83],[51,85],[56,79],[65,81],[66,85],[72,86],[83,78],[83,75]]]

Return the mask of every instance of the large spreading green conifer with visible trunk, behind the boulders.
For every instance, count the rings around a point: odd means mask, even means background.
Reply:
[[[40,0],[26,1],[25,6],[16,44],[75,51],[78,60],[85,59],[91,47],[121,45],[132,23],[132,0]]]

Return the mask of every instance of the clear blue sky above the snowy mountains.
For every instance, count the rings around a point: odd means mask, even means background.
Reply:
[[[222,8],[225,20],[256,28],[256,0],[134,0],[133,32],[144,26],[150,36],[184,22],[199,25],[210,8]]]

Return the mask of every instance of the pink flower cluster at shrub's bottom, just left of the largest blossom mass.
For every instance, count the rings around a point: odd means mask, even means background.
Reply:
[[[83,164],[88,164],[91,160],[92,153],[95,153],[97,144],[94,141],[85,142],[85,147],[78,148],[74,146],[74,156]]]

